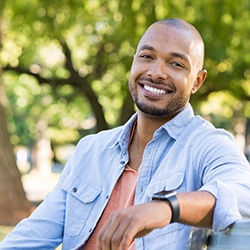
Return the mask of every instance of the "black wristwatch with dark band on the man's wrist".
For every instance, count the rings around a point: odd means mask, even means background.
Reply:
[[[178,221],[180,217],[180,204],[176,197],[176,191],[174,190],[162,190],[158,193],[153,194],[152,200],[163,200],[167,201],[172,211],[172,218],[170,223]]]

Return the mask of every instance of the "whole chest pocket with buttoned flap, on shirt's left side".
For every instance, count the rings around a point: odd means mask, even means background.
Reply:
[[[102,192],[101,183],[93,183],[70,174],[62,188],[67,192],[65,211],[65,234],[77,236],[95,205],[95,200]]]

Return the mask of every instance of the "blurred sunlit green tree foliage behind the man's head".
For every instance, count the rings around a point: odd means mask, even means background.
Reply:
[[[5,0],[3,8],[0,61],[15,69],[3,74],[14,143],[32,144],[41,120],[57,143],[94,132],[87,86],[108,126],[120,124],[131,113],[127,80],[136,44],[165,17],[191,22],[206,44],[208,78],[191,99],[195,110],[231,130],[250,117],[248,0]]]

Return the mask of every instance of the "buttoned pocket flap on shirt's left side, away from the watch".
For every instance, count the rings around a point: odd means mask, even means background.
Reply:
[[[101,184],[94,184],[91,181],[80,179],[73,174],[67,176],[62,188],[84,203],[94,201],[102,192]]]

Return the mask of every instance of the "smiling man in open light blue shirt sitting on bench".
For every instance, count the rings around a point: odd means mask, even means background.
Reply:
[[[192,226],[218,231],[249,217],[248,162],[189,104],[206,78],[203,59],[192,25],[152,24],[129,79],[138,112],[83,138],[54,191],[0,249],[188,249]]]

